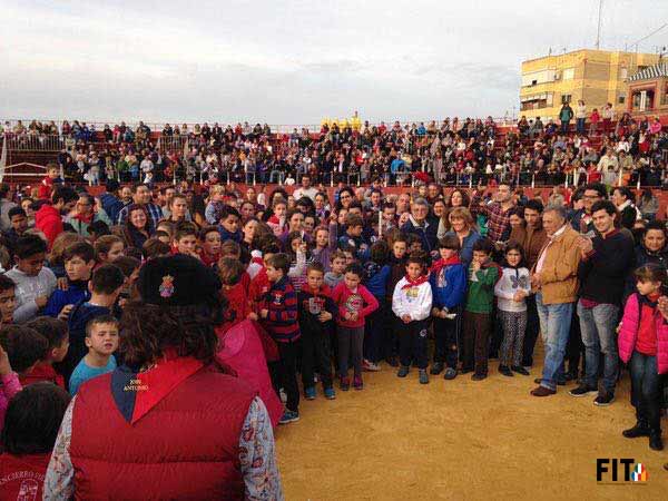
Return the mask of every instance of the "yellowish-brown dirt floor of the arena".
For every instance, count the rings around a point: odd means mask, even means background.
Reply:
[[[572,383],[530,396],[538,369],[510,379],[490,362],[482,382],[432,376],[423,386],[418,371],[401,380],[383,365],[365,373],[361,392],[337,389],[326,401],[318,387],[315,401],[302,401],[301,421],[276,433],[286,499],[668,499],[668,449],[621,436],[635,423],[628,375],[617,401],[597,407],[568,395]],[[597,483],[597,458],[633,458],[648,481]]]

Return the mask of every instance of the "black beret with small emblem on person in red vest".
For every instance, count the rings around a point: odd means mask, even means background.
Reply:
[[[184,254],[148,261],[137,281],[141,299],[158,306],[215,304],[220,286],[212,268]]]

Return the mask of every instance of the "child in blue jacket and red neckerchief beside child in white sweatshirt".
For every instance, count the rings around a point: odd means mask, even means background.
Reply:
[[[466,293],[466,267],[459,258],[460,242],[456,235],[446,235],[439,240],[439,254],[431,271],[435,350],[431,374],[456,377],[459,358],[458,331],[461,318],[461,305]],[[455,316],[453,316],[455,315]]]

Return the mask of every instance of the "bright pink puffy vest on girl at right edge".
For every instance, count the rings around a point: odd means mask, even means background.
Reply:
[[[628,363],[631,360],[636,348],[636,336],[638,335],[638,325],[640,323],[640,303],[638,294],[631,294],[623,308],[623,318],[619,328],[619,357]],[[657,365],[659,374],[668,372],[668,323],[657,311],[655,313],[655,323],[657,326]]]

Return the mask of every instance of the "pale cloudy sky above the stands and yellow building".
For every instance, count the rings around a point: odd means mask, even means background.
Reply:
[[[0,0],[0,117],[317,124],[502,117],[520,63],[593,47],[598,0]],[[456,2],[460,3],[460,2]],[[601,48],[668,22],[607,0]],[[640,45],[668,45],[668,28]]]

